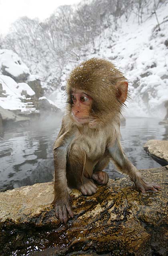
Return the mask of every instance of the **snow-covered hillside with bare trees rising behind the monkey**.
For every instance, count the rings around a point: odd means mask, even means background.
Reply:
[[[20,18],[3,42],[30,69],[16,60],[11,67],[15,76],[25,76],[22,82],[30,86],[30,72],[37,74],[44,92],[38,98],[46,96],[64,108],[63,88],[70,70],[88,58],[106,58],[129,80],[131,100],[124,115],[163,118],[168,100],[168,1],[128,3],[90,0],[76,8],[60,6],[44,22]],[[11,68],[4,69],[0,63],[2,74],[10,72],[13,78]],[[23,68],[22,75],[17,73],[18,66]]]

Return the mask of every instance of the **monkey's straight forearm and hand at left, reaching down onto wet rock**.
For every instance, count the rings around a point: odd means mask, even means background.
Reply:
[[[70,196],[68,194],[66,179],[66,147],[64,146],[54,149],[54,170],[54,200],[52,204],[54,204],[56,217],[62,223],[66,223],[68,214],[72,218],[74,217],[74,214],[70,207]]]

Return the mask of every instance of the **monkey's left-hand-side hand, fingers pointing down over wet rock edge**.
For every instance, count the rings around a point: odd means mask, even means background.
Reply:
[[[71,210],[70,207],[70,202],[69,202],[69,195],[67,198],[65,198],[64,200],[55,200],[52,202],[52,204],[54,204],[54,208],[55,208],[55,213],[56,213],[56,217],[58,218],[58,220],[60,220],[61,223],[66,223],[68,220],[68,214],[71,218],[74,217],[74,214]]]

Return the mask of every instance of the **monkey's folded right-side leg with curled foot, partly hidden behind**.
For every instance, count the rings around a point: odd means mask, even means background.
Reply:
[[[95,180],[100,185],[106,185],[108,183],[108,180],[109,180],[108,174],[106,172],[103,172],[102,170],[106,168],[109,162],[110,162],[110,156],[106,155],[106,156],[103,156],[94,167],[92,179]]]

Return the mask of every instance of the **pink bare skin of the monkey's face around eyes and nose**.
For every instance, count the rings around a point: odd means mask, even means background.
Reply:
[[[89,122],[92,98],[84,92],[73,90],[71,94],[73,101],[72,116],[79,124]]]

